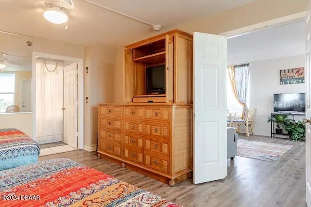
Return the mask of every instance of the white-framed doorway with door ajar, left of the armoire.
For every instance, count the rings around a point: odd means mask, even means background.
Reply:
[[[35,53],[33,65],[33,134],[41,154],[83,148],[83,60]]]

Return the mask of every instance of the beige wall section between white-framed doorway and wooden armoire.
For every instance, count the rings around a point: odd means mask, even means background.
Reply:
[[[96,150],[98,131],[98,104],[113,102],[115,49],[101,45],[85,47],[85,146]]]

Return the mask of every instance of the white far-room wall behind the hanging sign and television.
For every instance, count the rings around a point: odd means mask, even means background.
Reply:
[[[305,56],[252,62],[250,68],[250,108],[255,109],[254,134],[270,136],[267,117],[273,112],[273,94],[305,93],[305,84],[280,85],[280,70],[305,66]]]

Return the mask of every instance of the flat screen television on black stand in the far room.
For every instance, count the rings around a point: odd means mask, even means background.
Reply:
[[[305,112],[306,111],[306,94],[294,93],[294,94],[274,94],[274,111],[294,111]]]

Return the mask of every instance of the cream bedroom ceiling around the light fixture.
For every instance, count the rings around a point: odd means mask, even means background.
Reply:
[[[162,32],[200,16],[210,16],[255,0],[73,0],[74,15],[65,25],[46,21],[34,0],[1,0],[0,31],[74,44],[124,45],[155,35],[152,26],[117,14],[101,4],[152,25]],[[14,15],[13,15],[14,14]]]

